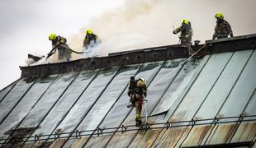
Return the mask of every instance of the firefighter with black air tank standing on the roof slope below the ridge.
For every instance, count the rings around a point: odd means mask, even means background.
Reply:
[[[145,99],[147,96],[147,86],[145,84],[145,79],[139,78],[138,80],[135,80],[134,76],[130,76],[128,95],[130,96],[132,107],[135,107],[136,126],[140,127],[143,99]]]

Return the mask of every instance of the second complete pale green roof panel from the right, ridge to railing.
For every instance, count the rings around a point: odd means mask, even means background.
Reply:
[[[231,56],[232,53],[221,53],[211,56],[169,121],[192,119]]]

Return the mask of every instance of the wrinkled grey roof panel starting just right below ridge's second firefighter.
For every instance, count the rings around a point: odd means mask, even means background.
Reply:
[[[97,77],[92,81],[87,90],[83,92],[83,95],[78,102],[69,111],[69,114],[59,124],[57,130],[62,132],[73,132],[78,127],[78,124],[82,122],[84,116],[92,108],[93,104],[97,102],[97,98],[105,90],[106,86],[116,75],[119,67],[112,68],[107,71],[100,71]]]

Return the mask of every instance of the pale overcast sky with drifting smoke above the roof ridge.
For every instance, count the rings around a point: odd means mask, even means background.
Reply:
[[[224,14],[234,35],[256,33],[255,6],[255,0],[0,0],[0,90],[21,76],[27,53],[50,51],[50,33],[82,50],[84,31],[91,28],[102,39],[99,53],[105,56],[177,44],[173,25],[187,18],[192,38],[204,43],[213,34],[216,12]]]

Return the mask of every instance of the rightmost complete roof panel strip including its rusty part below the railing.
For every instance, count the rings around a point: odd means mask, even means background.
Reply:
[[[206,101],[201,105],[195,115],[195,119],[214,118],[216,113],[220,110],[226,97],[229,95],[231,88],[235,85],[239,73],[242,72],[244,64],[249,60],[252,51],[237,52],[230,59],[230,62],[225,67],[216,85],[207,96]],[[211,123],[211,121],[201,121],[200,123]],[[206,136],[210,126],[196,126],[192,128],[192,132],[187,136],[183,146],[197,146],[201,140]]]

